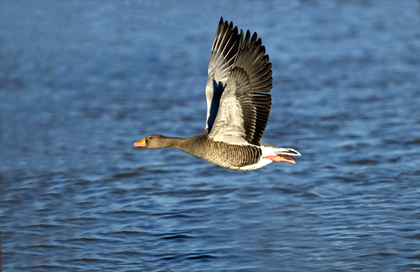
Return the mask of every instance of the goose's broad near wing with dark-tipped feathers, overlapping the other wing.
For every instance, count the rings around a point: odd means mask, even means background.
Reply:
[[[241,30],[241,41],[244,31]],[[214,141],[260,145],[271,108],[271,63],[261,39],[246,31],[209,134]]]

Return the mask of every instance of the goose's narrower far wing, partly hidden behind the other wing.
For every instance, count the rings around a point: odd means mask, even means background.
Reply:
[[[225,90],[230,71],[235,63],[241,38],[238,35],[238,28],[233,28],[233,23],[223,22],[223,17],[218,24],[216,37],[209,61],[209,78],[207,78],[207,120],[206,130],[209,132],[213,127],[218,112],[219,100]]]

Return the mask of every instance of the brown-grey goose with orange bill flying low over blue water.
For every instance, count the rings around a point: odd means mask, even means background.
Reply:
[[[260,169],[272,162],[295,164],[300,153],[261,140],[272,105],[272,64],[255,32],[218,24],[211,48],[206,85],[204,132],[190,138],[158,134],[134,143],[141,148],[176,148],[236,171]]]

